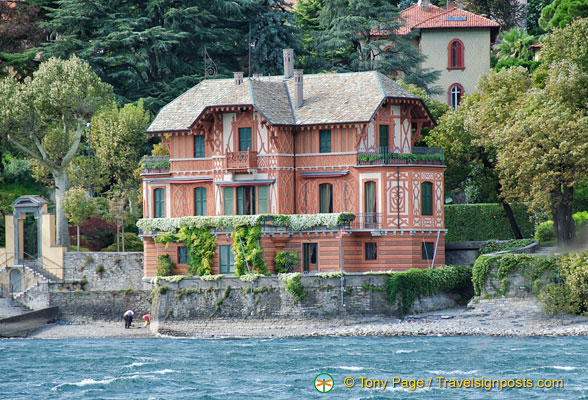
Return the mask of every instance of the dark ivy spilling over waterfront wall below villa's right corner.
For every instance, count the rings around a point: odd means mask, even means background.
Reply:
[[[434,269],[411,268],[390,275],[386,284],[388,299],[398,307],[400,316],[410,311],[414,301],[439,292],[460,292],[471,285],[472,269],[443,266]]]

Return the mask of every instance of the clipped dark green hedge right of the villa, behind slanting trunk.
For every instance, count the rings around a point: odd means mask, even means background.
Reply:
[[[535,224],[524,204],[512,204],[524,238],[535,233]],[[446,242],[514,239],[506,213],[499,203],[445,205]]]

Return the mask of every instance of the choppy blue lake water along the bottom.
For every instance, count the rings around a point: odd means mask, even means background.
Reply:
[[[588,399],[588,338],[0,340],[1,399]],[[318,374],[334,379],[329,393]],[[360,377],[387,379],[385,391]],[[563,389],[439,388],[452,379],[563,379]],[[343,380],[353,377],[354,388]],[[433,378],[392,388],[393,377]],[[367,385],[367,381],[364,381]]]

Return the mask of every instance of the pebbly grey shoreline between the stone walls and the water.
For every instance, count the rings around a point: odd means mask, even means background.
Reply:
[[[160,333],[137,321],[132,329],[120,322],[57,322],[35,332],[35,339],[70,338],[298,338],[343,336],[583,336],[588,317],[547,316],[536,299],[487,299],[467,307],[408,315],[403,319],[355,320],[198,320],[166,323]]]

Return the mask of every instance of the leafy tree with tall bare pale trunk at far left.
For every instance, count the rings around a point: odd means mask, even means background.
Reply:
[[[0,131],[36,160],[55,183],[57,244],[69,245],[63,198],[70,187],[68,167],[86,124],[96,110],[112,101],[112,87],[75,56],[42,63],[32,78],[0,81]]]

